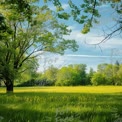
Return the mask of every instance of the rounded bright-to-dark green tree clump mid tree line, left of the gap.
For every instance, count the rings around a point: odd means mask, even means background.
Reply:
[[[62,67],[57,73],[56,85],[77,86],[86,85],[86,65],[75,64]]]

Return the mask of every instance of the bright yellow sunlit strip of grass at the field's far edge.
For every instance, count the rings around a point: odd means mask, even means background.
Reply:
[[[0,93],[5,92],[5,88],[0,88]],[[122,86],[15,87],[14,92],[119,93],[122,92]]]

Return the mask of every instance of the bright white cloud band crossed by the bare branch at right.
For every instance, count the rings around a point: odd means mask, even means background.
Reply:
[[[102,31],[101,31],[101,33],[102,33]],[[80,32],[80,30],[73,30],[69,38],[75,39],[78,42],[78,44],[82,43],[82,45],[83,45],[86,43],[85,45],[88,44],[88,45],[92,46],[92,45],[97,45],[98,43],[100,43],[105,38],[105,36],[102,36],[102,35],[100,36],[99,32],[98,33],[90,32],[89,34],[84,35]],[[83,43],[83,42],[85,42],[85,43]],[[116,37],[116,38],[113,37],[109,40],[106,40],[105,42],[100,43],[99,46],[103,49],[121,48],[122,39],[121,39],[121,37]]]

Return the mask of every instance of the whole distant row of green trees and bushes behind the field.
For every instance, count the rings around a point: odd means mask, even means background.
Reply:
[[[122,85],[122,64],[99,64],[97,71],[90,68],[89,72],[86,64],[60,69],[50,66],[43,73],[24,73],[22,77],[18,86]]]

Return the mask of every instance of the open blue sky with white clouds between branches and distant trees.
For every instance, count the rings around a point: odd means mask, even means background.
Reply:
[[[66,1],[67,0],[62,0],[62,6],[64,10],[68,12],[70,8]],[[81,4],[80,0],[73,0],[73,2],[77,5]],[[55,10],[52,4],[48,4],[50,9]],[[109,4],[104,4],[98,7],[98,9],[101,14],[99,18],[100,23],[94,24],[88,34],[82,34],[81,29],[83,26],[74,22],[72,19],[68,21],[60,20],[61,22],[65,22],[69,26],[69,29],[72,29],[70,36],[66,38],[75,39],[79,45],[79,49],[77,52],[67,50],[64,55],[50,53],[41,55],[38,71],[44,71],[51,65],[61,68],[69,64],[86,64],[87,71],[89,71],[90,68],[97,70],[97,65],[101,63],[113,64],[116,60],[122,63],[121,35],[116,35],[100,45],[93,45],[104,39],[104,33],[109,33],[111,31],[111,27],[115,25],[115,19],[117,18],[117,14]]]

